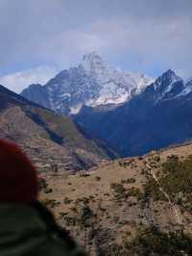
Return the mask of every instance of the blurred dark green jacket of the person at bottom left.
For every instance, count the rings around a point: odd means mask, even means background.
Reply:
[[[0,205],[1,256],[84,256],[52,215],[37,204]]]

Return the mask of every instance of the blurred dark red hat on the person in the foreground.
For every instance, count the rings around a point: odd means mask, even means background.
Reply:
[[[17,145],[0,140],[0,203],[31,202],[36,196],[35,167]]]

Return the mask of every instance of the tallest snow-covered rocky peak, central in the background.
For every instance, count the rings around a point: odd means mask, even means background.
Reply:
[[[86,105],[121,104],[146,88],[152,78],[110,67],[96,52],[77,67],[62,70],[46,85],[31,85],[21,95],[60,114],[77,114]]]

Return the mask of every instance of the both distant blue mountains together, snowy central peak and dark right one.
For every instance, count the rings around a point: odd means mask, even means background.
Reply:
[[[171,69],[154,79],[112,68],[92,52],[21,95],[73,116],[88,136],[123,157],[192,138],[192,79],[184,81]]]

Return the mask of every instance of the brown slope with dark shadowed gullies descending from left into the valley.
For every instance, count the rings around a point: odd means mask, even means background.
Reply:
[[[114,157],[103,143],[86,138],[66,116],[0,87],[0,138],[17,142],[38,168],[77,171]]]

